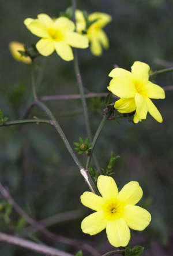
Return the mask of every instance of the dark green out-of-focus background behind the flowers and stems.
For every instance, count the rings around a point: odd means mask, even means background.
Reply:
[[[32,102],[31,71],[17,63],[9,52],[10,41],[30,46],[39,38],[27,30],[23,21],[36,19],[37,14],[47,13],[58,17],[71,5],[67,0],[2,0],[1,1],[1,50],[0,108],[9,120],[18,120]],[[143,61],[153,71],[171,67],[173,62],[173,2],[172,0],[88,0],[77,1],[77,8],[92,12],[105,12],[112,22],[105,27],[110,39],[110,49],[101,57],[95,57],[89,49],[78,50],[83,83],[88,92],[108,92],[109,72],[118,65],[130,71],[134,61]],[[159,59],[159,60],[158,60]],[[169,63],[165,63],[164,61]],[[73,61],[63,61],[57,53],[37,58],[36,76],[38,96],[78,93]],[[172,85],[172,74],[159,75],[155,83]],[[173,204],[172,204],[172,154],[173,154],[173,92],[166,92],[165,100],[153,100],[163,116],[157,123],[148,114],[142,123],[133,125],[128,120],[107,122],[96,145],[100,166],[108,164],[111,151],[120,155],[114,165],[119,190],[127,182],[138,181],[144,196],[138,203],[152,214],[151,224],[143,232],[131,231],[133,246],[144,246],[144,256],[171,256],[173,254]],[[92,135],[103,116],[104,98],[87,100]],[[73,147],[78,137],[86,138],[84,117],[80,100],[45,101],[58,119],[67,139]],[[69,111],[73,111],[70,116]],[[77,114],[78,113],[78,114]],[[72,113],[71,113],[72,114]],[[40,109],[34,108],[30,118],[46,118]],[[74,146],[75,147],[75,146]],[[79,156],[85,164],[86,156]],[[47,125],[22,125],[0,127],[1,182],[7,186],[16,202],[35,220],[50,217],[48,229],[59,235],[82,240],[104,254],[114,250],[103,231],[95,236],[82,233],[80,224],[93,211],[80,202],[80,195],[88,191],[76,164],[67,151],[57,131]],[[95,167],[92,162],[92,167]],[[21,233],[28,225],[0,196],[0,229],[27,239],[39,239],[43,243],[76,254],[80,248],[60,242],[52,242],[40,232]],[[69,213],[69,211],[72,211]],[[7,217],[8,215],[8,217]],[[66,218],[62,218],[66,216]],[[26,231],[26,229],[25,229]],[[83,250],[84,255],[90,255]],[[3,256],[40,255],[16,246],[0,243]]]

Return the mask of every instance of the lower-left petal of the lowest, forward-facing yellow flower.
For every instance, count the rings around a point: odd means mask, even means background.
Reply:
[[[107,219],[104,218],[104,211],[97,211],[84,218],[81,223],[81,229],[84,233],[89,235],[96,235],[106,228]]]

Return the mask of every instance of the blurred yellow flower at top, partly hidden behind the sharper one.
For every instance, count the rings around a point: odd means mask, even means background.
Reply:
[[[102,54],[102,46],[105,50],[109,47],[107,35],[102,30],[112,20],[112,17],[107,13],[95,12],[88,16],[89,21],[97,20],[86,31],[86,36],[91,42],[90,49],[92,54],[100,56]],[[82,33],[85,30],[86,21],[84,15],[80,10],[76,10],[76,30]]]

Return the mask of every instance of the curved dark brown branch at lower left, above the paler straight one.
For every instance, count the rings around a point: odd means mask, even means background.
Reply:
[[[44,235],[46,235],[47,237],[49,237],[52,240],[58,241],[58,242],[62,242],[62,243],[66,243],[66,244],[70,244],[71,246],[76,246],[78,248],[82,248],[86,251],[89,251],[89,253],[92,253],[94,256],[100,256],[100,254],[95,250],[95,248],[93,248],[92,246],[90,246],[89,244],[86,244],[84,242],[75,240],[75,239],[71,239],[71,238],[67,238],[67,237],[63,237],[61,235],[55,235],[54,233],[51,233],[50,231],[48,231],[46,228],[44,228],[44,226],[40,225],[38,222],[36,222],[35,220],[33,220],[31,217],[29,217],[21,208],[20,206],[18,206],[18,204],[14,201],[14,199],[12,198],[12,196],[10,196],[9,192],[7,192],[7,190],[2,186],[1,182],[0,182],[0,192],[2,193],[2,195],[4,196],[4,198],[6,200],[8,200],[13,208],[17,211],[17,213],[25,219],[25,221],[27,221],[30,225],[32,225],[34,228],[36,228],[38,231],[42,232]]]

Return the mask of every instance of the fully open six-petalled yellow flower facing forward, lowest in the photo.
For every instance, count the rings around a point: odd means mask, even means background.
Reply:
[[[82,231],[92,236],[106,228],[112,246],[127,246],[130,240],[129,228],[142,231],[151,221],[148,211],[135,206],[142,198],[140,185],[131,181],[118,193],[114,179],[100,175],[97,187],[102,198],[92,192],[84,192],[81,196],[82,204],[96,211],[82,221]]]

